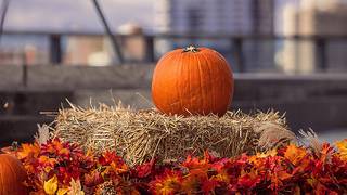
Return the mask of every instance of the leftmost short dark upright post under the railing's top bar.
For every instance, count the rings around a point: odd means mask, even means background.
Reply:
[[[59,65],[62,63],[62,44],[60,35],[50,36],[50,63]]]

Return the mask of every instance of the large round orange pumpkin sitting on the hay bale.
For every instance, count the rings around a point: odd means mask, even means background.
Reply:
[[[168,115],[222,116],[232,101],[233,87],[232,70],[220,53],[190,46],[170,51],[158,61],[152,99]]]

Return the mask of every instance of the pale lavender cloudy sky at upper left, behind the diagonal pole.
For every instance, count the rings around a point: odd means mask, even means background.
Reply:
[[[113,30],[127,22],[151,29],[154,1],[99,0],[99,3]],[[4,29],[103,31],[91,0],[10,0]]]

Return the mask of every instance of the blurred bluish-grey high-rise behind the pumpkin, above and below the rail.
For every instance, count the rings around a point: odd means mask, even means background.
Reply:
[[[160,0],[156,2],[155,29],[179,35],[272,35],[273,9],[272,0]],[[232,61],[230,40],[162,40],[156,48],[164,53],[189,43],[215,48]],[[247,69],[272,69],[273,48],[271,41],[244,42]]]

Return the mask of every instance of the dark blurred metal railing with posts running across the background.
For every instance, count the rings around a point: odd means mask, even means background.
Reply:
[[[102,34],[94,32],[47,32],[47,31],[4,31],[3,35],[23,35],[23,36],[44,36],[49,38],[49,58],[50,64],[59,65],[63,60],[62,51],[62,37],[68,36],[88,36],[88,37],[103,37]],[[179,34],[156,34],[156,35],[114,35],[116,41],[121,41],[131,37],[142,37],[145,42],[145,56],[140,63],[153,63],[157,61],[155,54],[155,41],[156,40],[175,40],[183,39],[190,41],[196,40],[228,40],[231,48],[230,52],[234,61],[234,65],[237,70],[243,73],[246,72],[244,63],[244,43],[246,41],[310,41],[314,44],[317,58],[317,68],[319,70],[326,70],[329,68],[327,61],[327,43],[330,41],[346,41],[347,35],[344,36],[280,36],[280,35],[245,35],[245,36],[234,36],[234,35],[179,35]],[[120,51],[123,53],[123,51]],[[347,55],[347,51],[346,51]],[[125,63],[127,63],[125,61]]]

